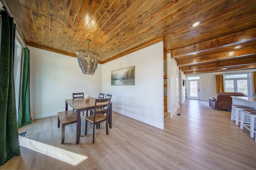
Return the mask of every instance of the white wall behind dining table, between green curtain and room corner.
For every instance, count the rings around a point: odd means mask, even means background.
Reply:
[[[71,99],[72,93],[84,92],[84,95],[98,97],[101,92],[102,64],[98,64],[94,75],[84,75],[74,57],[34,47],[28,49],[32,119],[64,111],[65,99]]]

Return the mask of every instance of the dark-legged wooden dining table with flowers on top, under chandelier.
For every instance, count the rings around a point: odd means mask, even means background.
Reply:
[[[76,121],[76,145],[79,144],[80,135],[81,135],[81,120],[80,113],[81,111],[87,111],[94,109],[96,98],[90,98],[89,101],[86,101],[85,98],[76,98],[76,99],[66,99],[66,111],[68,110],[68,105],[72,107],[77,114]],[[86,114],[87,115],[87,114]],[[108,125],[109,128],[112,128],[112,102],[108,109]]]

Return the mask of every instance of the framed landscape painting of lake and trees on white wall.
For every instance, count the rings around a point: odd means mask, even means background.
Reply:
[[[135,85],[135,66],[111,71],[111,85]]]

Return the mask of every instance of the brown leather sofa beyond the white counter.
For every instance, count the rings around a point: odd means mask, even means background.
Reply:
[[[216,98],[209,98],[209,106],[215,109],[231,110],[232,98],[230,96],[245,95],[236,92],[220,92]]]

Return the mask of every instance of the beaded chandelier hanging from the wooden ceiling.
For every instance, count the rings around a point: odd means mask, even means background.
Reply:
[[[78,64],[84,74],[94,74],[98,65],[99,55],[89,50],[91,40],[87,39],[88,50],[76,51]]]

